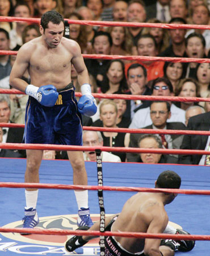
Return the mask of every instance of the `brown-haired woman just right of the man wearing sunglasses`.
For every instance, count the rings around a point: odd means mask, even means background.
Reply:
[[[184,78],[180,81],[177,87],[177,90],[175,91],[175,96],[200,97],[199,84],[196,82],[196,80],[192,78]],[[188,101],[177,101],[174,104],[177,107],[183,109],[184,111],[192,105],[198,105],[198,103],[196,102],[188,102]]]

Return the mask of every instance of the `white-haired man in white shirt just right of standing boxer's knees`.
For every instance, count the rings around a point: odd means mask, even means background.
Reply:
[[[103,138],[100,132],[83,131],[82,140],[83,146],[86,147],[103,146]],[[102,151],[101,156],[103,162],[121,162],[119,156],[116,156],[109,152]],[[85,151],[84,159],[85,161],[96,161],[95,151]]]

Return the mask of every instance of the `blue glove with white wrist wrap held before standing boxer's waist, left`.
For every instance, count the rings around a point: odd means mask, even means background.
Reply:
[[[45,107],[53,107],[58,98],[56,87],[52,86],[52,84],[41,87],[28,84],[26,87],[26,94],[34,97],[41,105],[44,105]]]

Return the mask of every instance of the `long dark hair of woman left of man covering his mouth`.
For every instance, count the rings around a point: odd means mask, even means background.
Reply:
[[[108,63],[107,67],[106,67],[106,74],[107,74],[109,68],[111,67],[111,64],[114,63],[114,62],[119,62],[121,64],[121,67],[122,67],[122,70],[123,70],[123,78],[120,81],[119,90],[117,91],[119,93],[123,93],[124,91],[128,90],[127,80],[125,78],[125,66],[124,66],[124,63],[120,59],[113,59],[113,60],[111,60]],[[109,80],[107,78],[107,75],[105,75],[104,76],[104,80],[103,80],[103,86],[101,87],[101,90],[102,90],[103,94],[105,94],[106,91],[108,91],[109,88],[110,88]]]

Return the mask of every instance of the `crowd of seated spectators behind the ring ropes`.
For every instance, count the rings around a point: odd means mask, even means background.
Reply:
[[[170,23],[177,25],[210,25],[209,0],[1,0],[0,16],[40,18],[57,10],[66,19],[114,22]],[[83,54],[209,58],[210,30],[163,29],[156,27],[103,27],[69,24],[69,37]],[[39,25],[26,22],[0,22],[0,50],[14,50],[40,36]],[[0,55],[0,88],[11,89],[9,76],[15,55]],[[209,63],[173,63],[152,60],[85,59],[92,92],[102,94],[210,97]],[[30,84],[26,70],[23,79]],[[72,80],[79,92],[77,73],[72,66]],[[24,123],[27,97],[2,96],[0,122]],[[83,125],[95,127],[145,129],[195,129],[209,131],[210,103],[98,100],[93,117],[83,116]],[[8,118],[5,119],[5,116]],[[193,117],[194,116],[194,117]],[[192,118],[193,117],[193,118]],[[198,123],[201,122],[201,123]],[[0,129],[1,142],[11,141],[12,129]],[[9,132],[8,132],[9,131]],[[7,138],[8,137],[8,138]],[[197,143],[200,140],[200,143]],[[37,142],[39,143],[39,142]],[[205,149],[210,150],[210,136],[140,135],[116,132],[85,132],[84,145],[110,147]],[[0,156],[24,157],[24,152],[5,152]],[[210,164],[209,156],[104,153],[113,161]],[[210,155],[210,153],[209,153]],[[94,152],[84,154],[95,161]],[[45,151],[46,159],[65,159],[65,153]],[[107,160],[108,161],[108,160]],[[112,161],[112,160],[110,160]]]

